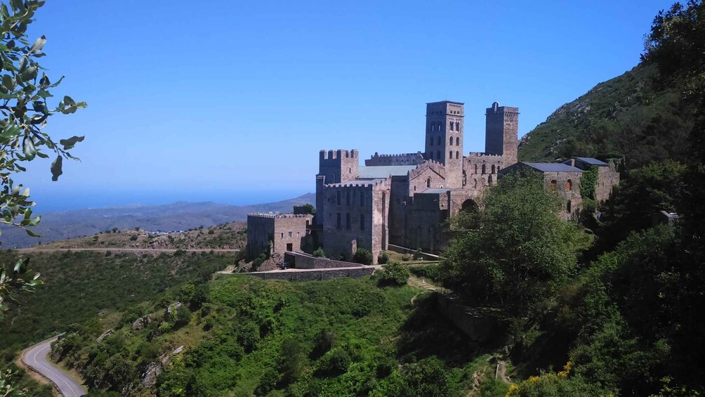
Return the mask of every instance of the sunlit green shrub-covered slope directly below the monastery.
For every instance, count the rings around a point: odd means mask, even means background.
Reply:
[[[375,279],[228,276],[209,283],[197,304],[178,293],[140,305],[101,342],[104,329],[89,322],[54,351],[93,391],[131,384],[130,393],[140,393],[145,368],[160,355],[168,364],[153,386],[159,396],[460,396],[473,374],[497,387],[488,355],[419,292]],[[190,307],[182,326],[164,317],[170,298]],[[152,318],[144,329],[130,326],[135,310]],[[178,346],[184,353],[171,353]]]

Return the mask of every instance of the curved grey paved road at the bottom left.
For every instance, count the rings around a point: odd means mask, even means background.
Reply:
[[[37,343],[35,346],[27,348],[22,352],[22,362],[39,372],[43,377],[49,379],[56,387],[59,388],[61,395],[64,397],[80,397],[85,396],[87,390],[71,376],[63,372],[63,369],[56,367],[53,363],[47,360],[49,350],[51,350],[51,342],[56,341],[59,336],[47,339]]]

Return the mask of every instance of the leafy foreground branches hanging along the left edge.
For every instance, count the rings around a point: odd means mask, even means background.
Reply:
[[[44,132],[49,117],[54,114],[73,114],[86,106],[65,96],[54,109],[49,108],[53,95],[49,92],[58,86],[63,76],[52,83],[45,69],[37,60],[45,56],[42,49],[47,38],[42,36],[30,42],[25,32],[34,22],[35,12],[43,0],[12,0],[0,2],[0,224],[25,229],[27,234],[39,237],[28,229],[41,221],[32,217],[30,189],[15,183],[12,176],[27,171],[25,164],[37,157],[56,155],[51,163],[51,180],[57,181],[63,173],[63,159],[77,159],[69,152],[83,140],[73,136],[55,142]],[[7,310],[4,303],[16,302],[16,295],[32,292],[39,281],[39,274],[31,275],[29,260],[20,260],[10,270],[0,267],[0,312]],[[1,319],[1,317],[0,317]],[[3,391],[10,396],[20,396],[25,391],[13,391],[9,382],[11,373],[2,377]]]

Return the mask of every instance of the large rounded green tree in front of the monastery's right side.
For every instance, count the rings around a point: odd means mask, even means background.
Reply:
[[[582,232],[560,219],[560,197],[539,173],[503,177],[481,207],[455,225],[443,254],[446,282],[477,303],[525,314],[575,271]]]

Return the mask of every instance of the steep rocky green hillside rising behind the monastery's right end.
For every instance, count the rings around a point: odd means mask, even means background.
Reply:
[[[560,106],[520,140],[520,161],[624,156],[632,169],[683,159],[692,108],[675,85],[662,86],[657,77],[655,66],[639,65]]]

